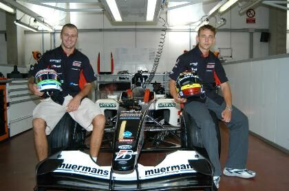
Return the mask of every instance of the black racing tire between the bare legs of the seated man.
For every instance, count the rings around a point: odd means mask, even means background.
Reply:
[[[48,153],[52,155],[62,150],[74,150],[84,144],[86,131],[65,113],[53,131],[47,136]]]

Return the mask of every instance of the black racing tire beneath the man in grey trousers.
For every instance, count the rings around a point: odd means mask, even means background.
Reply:
[[[209,112],[215,123],[219,157],[220,157],[220,154],[221,154],[220,127],[219,127],[218,119],[215,113],[211,110],[209,110]],[[187,114],[185,110],[182,111],[180,123],[182,127],[182,133],[181,133],[182,147],[186,149],[204,148],[204,145],[202,143],[202,136],[201,136],[200,128],[197,127],[197,124],[195,123],[195,120],[193,119],[193,117]]]

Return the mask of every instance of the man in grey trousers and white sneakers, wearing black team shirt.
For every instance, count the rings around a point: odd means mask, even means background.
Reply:
[[[210,51],[215,42],[215,28],[211,25],[200,27],[197,34],[197,46],[180,55],[169,77],[170,93],[175,102],[184,103],[184,110],[190,114],[197,127],[201,129],[204,147],[215,171],[214,183],[219,188],[222,175],[215,124],[208,110],[212,110],[217,118],[223,120],[230,129],[230,145],[228,160],[223,170],[224,175],[231,177],[251,178],[256,173],[246,169],[248,153],[248,118],[232,105],[231,88],[220,60]],[[184,71],[195,71],[204,84],[220,84],[221,97],[212,88],[204,88],[206,98],[184,99],[176,92],[176,79]]]

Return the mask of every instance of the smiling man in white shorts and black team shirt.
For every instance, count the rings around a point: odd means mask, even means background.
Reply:
[[[77,27],[66,24],[61,30],[61,46],[43,55],[34,70],[30,73],[28,87],[34,95],[43,97],[43,92],[34,84],[34,77],[38,71],[50,68],[58,73],[61,79],[61,97],[63,103],[56,103],[47,97],[37,105],[33,111],[33,131],[36,154],[39,161],[47,157],[47,138],[65,112],[76,120],[87,131],[92,131],[90,140],[90,155],[94,162],[97,160],[100,144],[105,128],[105,116],[100,108],[87,98],[92,90],[92,82],[96,80],[92,66],[86,55],[75,47],[78,38]],[[79,80],[85,78],[81,88]]]

